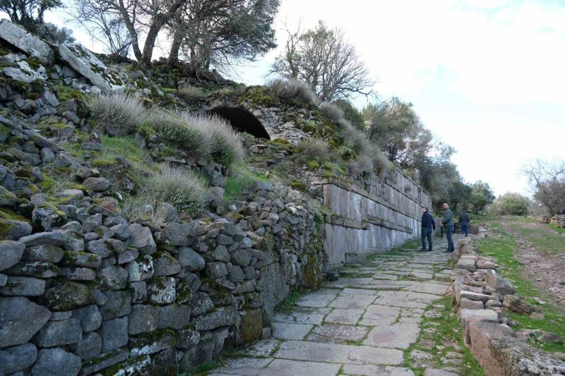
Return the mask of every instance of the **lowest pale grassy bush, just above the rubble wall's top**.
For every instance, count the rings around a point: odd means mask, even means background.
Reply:
[[[161,166],[143,187],[142,195],[154,207],[168,202],[177,210],[200,212],[204,207],[206,183],[203,178],[184,167]]]

